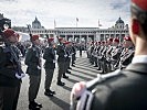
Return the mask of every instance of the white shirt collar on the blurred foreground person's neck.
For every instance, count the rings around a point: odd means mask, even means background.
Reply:
[[[147,64],[147,55],[137,55],[133,58],[132,64],[145,63]]]

